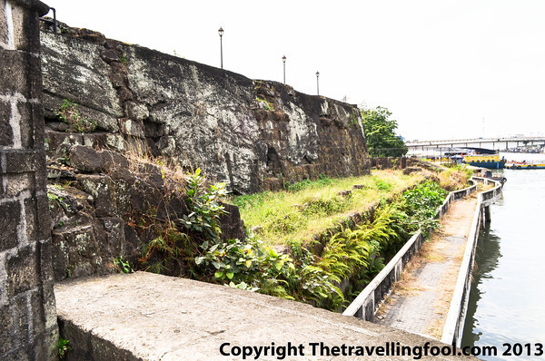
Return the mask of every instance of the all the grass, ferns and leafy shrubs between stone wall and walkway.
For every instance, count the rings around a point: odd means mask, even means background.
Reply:
[[[162,174],[165,181],[170,178],[169,171]],[[321,177],[286,184],[286,190],[276,193],[237,197],[243,220],[262,230],[247,239],[224,240],[219,228],[224,185],[207,184],[197,170],[185,176],[183,186],[176,183],[183,187],[176,191],[181,191],[178,196],[188,214],[159,220],[156,208],[149,207],[134,220],[144,232],[156,234],[137,266],[337,310],[380,272],[411,233],[437,227],[430,219],[446,192],[422,180],[401,171],[375,171],[372,176]],[[352,211],[372,204],[378,206],[358,226],[326,234]],[[322,234],[322,249],[312,254],[316,234]],[[289,246],[291,252],[282,254],[272,246]],[[342,292],[344,281],[349,286]]]

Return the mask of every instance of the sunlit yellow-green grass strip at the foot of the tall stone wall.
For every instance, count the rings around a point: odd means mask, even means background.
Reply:
[[[303,180],[286,185],[279,192],[265,191],[233,199],[248,228],[259,226],[259,237],[266,246],[308,244],[312,237],[330,229],[355,211],[389,198],[423,178],[401,171],[372,171],[372,175],[319,180]],[[352,189],[360,185],[360,189]],[[339,195],[351,190],[349,195]]]

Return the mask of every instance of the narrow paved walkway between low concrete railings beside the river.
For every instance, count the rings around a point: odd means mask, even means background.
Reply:
[[[379,309],[378,324],[441,339],[476,205],[475,195],[451,203]]]

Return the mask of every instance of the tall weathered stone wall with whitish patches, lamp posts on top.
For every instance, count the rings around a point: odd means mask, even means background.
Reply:
[[[72,145],[126,151],[144,141],[154,156],[203,170],[235,194],[285,182],[361,175],[370,159],[355,105],[296,92],[103,34],[44,25],[45,139],[51,160]],[[74,133],[61,104],[78,104],[96,127]]]

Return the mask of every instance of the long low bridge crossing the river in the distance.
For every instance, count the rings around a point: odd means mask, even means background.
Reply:
[[[429,149],[442,148],[468,148],[505,150],[518,148],[520,146],[545,145],[545,137],[510,137],[510,138],[477,138],[458,139],[447,141],[407,141],[405,142],[409,151],[424,151]]]

